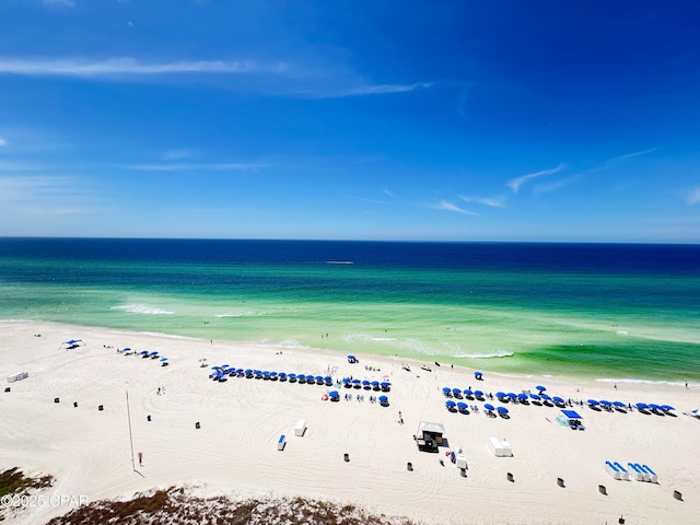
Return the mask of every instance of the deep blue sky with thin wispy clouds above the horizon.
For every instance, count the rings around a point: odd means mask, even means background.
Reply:
[[[0,235],[700,242],[691,1],[0,2]]]

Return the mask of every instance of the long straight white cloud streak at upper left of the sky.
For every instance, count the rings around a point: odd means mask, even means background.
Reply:
[[[100,78],[177,73],[283,73],[288,69],[289,65],[285,62],[262,63],[256,60],[142,62],[135,58],[112,58],[107,60],[24,60],[0,58],[0,73],[34,77]]]

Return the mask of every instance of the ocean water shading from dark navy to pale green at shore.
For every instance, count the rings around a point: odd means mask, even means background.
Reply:
[[[0,298],[3,322],[700,380],[698,245],[5,237]]]

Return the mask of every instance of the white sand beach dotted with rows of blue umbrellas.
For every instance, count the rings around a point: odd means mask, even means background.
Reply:
[[[320,349],[250,351],[231,341],[46,323],[2,323],[0,338],[3,389],[11,388],[0,390],[0,467],[55,476],[49,495],[96,501],[194,483],[211,493],[348,502],[431,524],[603,525],[622,515],[628,525],[657,525],[696,524],[700,516],[700,419],[684,415],[700,408],[700,385],[619,382],[615,390],[609,382],[503,376],[488,369],[477,382],[474,370],[428,362],[408,361],[408,372],[400,357],[358,355],[360,363],[350,364],[345,355]],[[85,345],[61,349],[69,339]],[[158,351],[170,364],[117,352],[125,347]],[[205,358],[208,366],[201,368]],[[330,370],[334,378],[386,376],[389,406],[370,402],[371,395],[381,395],[371,390],[211,381],[209,366],[224,363],[323,376]],[[16,372],[28,377],[7,383]],[[510,419],[489,418],[483,402],[465,400],[479,411],[451,413],[442,393],[445,386],[536,392],[540,384],[565,399],[667,404],[676,416],[574,406],[585,430],[573,431],[556,421],[556,407],[508,404]],[[159,388],[164,388],[160,395]],[[329,389],[339,390],[338,402],[322,399]],[[346,400],[347,393],[352,400]],[[300,419],[307,424],[301,438],[294,435]],[[420,421],[444,424],[450,446],[439,454],[419,452],[413,434]],[[278,451],[281,434],[287,445]],[[494,457],[491,436],[506,439],[513,457]],[[445,455],[456,447],[466,455],[466,477]],[[658,482],[616,480],[606,472],[606,460],[649,465]],[[70,502],[42,505],[7,523],[40,525],[69,510]]]

